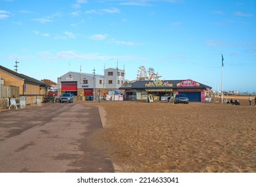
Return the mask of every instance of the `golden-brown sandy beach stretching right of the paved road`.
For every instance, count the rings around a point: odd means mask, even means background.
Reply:
[[[234,98],[233,98],[234,99]],[[216,103],[86,102],[104,128],[92,135],[116,172],[256,172],[256,107]],[[254,100],[253,100],[254,101]]]

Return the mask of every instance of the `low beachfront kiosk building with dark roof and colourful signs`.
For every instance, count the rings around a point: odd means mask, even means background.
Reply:
[[[190,102],[209,102],[211,87],[193,80],[140,80],[124,82],[125,100],[147,100],[152,95],[155,101],[174,100],[176,94],[186,94]]]

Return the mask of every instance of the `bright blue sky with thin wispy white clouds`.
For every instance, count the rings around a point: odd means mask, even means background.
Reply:
[[[256,1],[0,0],[0,64],[33,78],[154,68],[162,80],[192,79],[256,91]]]

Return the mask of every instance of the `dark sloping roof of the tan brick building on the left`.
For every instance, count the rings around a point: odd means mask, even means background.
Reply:
[[[31,77],[26,76],[24,74],[19,74],[18,72],[10,70],[9,68],[5,68],[4,66],[1,66],[1,65],[0,65],[0,70],[3,70],[4,72],[7,72],[8,74],[16,76],[17,78],[21,78],[22,80],[25,80],[25,82],[27,82],[29,84],[37,84],[39,86],[50,86],[49,84],[46,84],[45,82],[42,82],[40,80],[36,80],[35,78],[31,78]]]

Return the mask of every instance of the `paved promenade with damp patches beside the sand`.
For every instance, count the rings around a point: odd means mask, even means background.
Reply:
[[[80,102],[1,112],[0,172],[114,172],[90,144],[98,128],[98,108]]]

